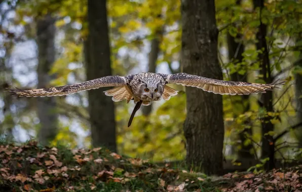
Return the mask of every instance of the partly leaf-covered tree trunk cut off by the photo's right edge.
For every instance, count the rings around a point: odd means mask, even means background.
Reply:
[[[297,41],[302,39],[302,33],[299,34],[299,38]],[[300,52],[300,56],[296,66],[302,67],[302,52]],[[295,74],[295,100],[297,105],[297,112],[296,112],[296,118],[297,123],[302,122],[302,74],[296,73]],[[299,148],[302,148],[302,127],[295,130],[295,135],[298,140],[298,146]]]

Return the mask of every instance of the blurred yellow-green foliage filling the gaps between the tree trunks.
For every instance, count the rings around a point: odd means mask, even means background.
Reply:
[[[223,96],[223,110],[225,118],[225,150],[238,142],[237,133],[244,128],[253,130],[253,135],[247,135],[244,145],[253,143],[253,154],[259,154],[261,137],[260,119],[266,115],[274,117],[272,122],[276,130],[270,132],[276,136],[283,129],[299,120],[295,119],[294,89],[292,85],[294,73],[301,73],[293,63],[301,53],[302,41],[297,39],[302,33],[301,1],[267,1],[265,9],[253,10],[250,0],[242,1],[240,5],[235,0],[216,0],[216,19],[219,29],[219,61],[223,69],[223,78],[230,79],[234,72],[248,74],[249,82],[264,83],[259,75],[259,51],[255,48],[255,34],[261,21],[268,25],[267,41],[269,44],[274,79],[286,79],[286,85],[280,90],[274,90],[274,112],[266,112],[259,107],[260,97],[250,97],[250,111],[241,114],[242,105],[237,106],[238,98],[229,95]],[[36,82],[28,82],[26,76],[32,73],[36,66],[36,54],[33,59],[14,60],[20,55],[16,49],[21,43],[35,40],[34,20],[46,13],[52,13],[56,18],[57,31],[57,60],[51,73],[56,80],[49,86],[79,83],[85,81],[85,64],[83,58],[83,41],[88,30],[86,23],[86,1],[79,0],[52,0],[52,1],[4,1],[1,6],[0,30],[2,44],[0,46],[3,69],[0,72],[0,84],[8,86],[32,87]],[[137,0],[122,1],[109,0],[107,2],[108,23],[111,40],[112,69],[116,75],[127,75],[146,71],[150,40],[159,29],[163,30],[160,38],[160,55],[157,61],[158,68],[168,69],[168,72],[181,70],[181,22],[179,0]],[[9,10],[9,11],[8,11]],[[13,16],[10,16],[13,14]],[[241,38],[236,41],[245,45],[243,61],[228,58],[226,34],[230,33]],[[26,51],[23,49],[23,51]],[[35,52],[36,50],[27,50]],[[26,54],[26,53],[25,53]],[[18,63],[19,62],[19,63]],[[20,63],[21,62],[21,63]],[[33,64],[32,64],[33,63]],[[176,65],[174,65],[176,64]],[[161,72],[161,71],[158,71]],[[20,75],[23,76],[21,77]],[[25,75],[25,77],[24,77]],[[24,83],[24,79],[27,83]],[[32,79],[32,78],[31,78]],[[4,85],[3,85],[4,86]],[[184,90],[181,86],[175,86]],[[5,102],[6,93],[0,92],[0,133],[8,134],[9,130],[16,140],[24,140],[29,135],[34,136],[39,127],[39,119],[35,114],[34,99],[12,98],[10,103]],[[60,131],[53,141],[70,145],[71,147],[90,147],[89,121],[87,113],[87,92],[80,92],[67,97],[61,97],[58,102],[60,113]],[[116,104],[116,120],[118,132],[118,149],[120,153],[131,157],[146,157],[154,161],[179,160],[185,156],[185,140],[182,135],[182,124],[185,120],[185,94],[180,93],[167,102],[154,105],[153,113],[145,117],[140,113],[134,118],[130,128],[127,127],[128,118],[134,107],[125,101]],[[9,107],[7,106],[9,105]],[[4,108],[9,112],[4,112]],[[101,106],[100,106],[101,107]],[[236,118],[235,118],[236,117]],[[251,124],[243,127],[246,119]],[[10,128],[10,129],[9,129]],[[22,137],[18,135],[23,135]],[[24,136],[25,135],[25,136]],[[288,142],[295,142],[293,132],[287,136]],[[283,142],[280,139],[277,143]],[[293,150],[294,152],[290,151]],[[280,149],[280,154],[291,157],[295,154],[294,148]],[[234,152],[226,152],[227,157],[234,157]]]

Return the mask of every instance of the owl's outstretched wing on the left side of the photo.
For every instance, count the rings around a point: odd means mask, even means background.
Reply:
[[[40,88],[32,90],[21,90],[21,89],[9,89],[13,94],[19,97],[52,97],[52,96],[62,96],[68,95],[82,90],[96,89],[100,87],[109,86],[121,86],[126,85],[126,78],[120,76],[106,76],[98,79],[93,79],[90,81],[85,81],[83,83],[78,83],[74,85],[64,85],[59,87],[51,88]]]

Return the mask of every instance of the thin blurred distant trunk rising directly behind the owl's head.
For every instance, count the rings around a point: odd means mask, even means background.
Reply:
[[[149,53],[149,69],[148,72],[155,73],[156,71],[156,62],[160,52],[160,35],[161,32],[158,31],[155,33],[155,37],[151,40],[151,50]],[[142,114],[148,116],[152,112],[152,104],[149,106],[142,106]]]

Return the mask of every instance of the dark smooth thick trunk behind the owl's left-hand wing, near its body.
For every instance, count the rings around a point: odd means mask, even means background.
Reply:
[[[88,0],[88,30],[85,42],[87,79],[111,75],[106,1]],[[99,88],[88,91],[93,147],[117,151],[114,103]]]

